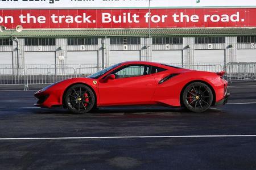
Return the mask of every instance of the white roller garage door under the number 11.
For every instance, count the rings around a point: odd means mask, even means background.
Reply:
[[[225,50],[195,50],[194,62],[224,65]]]

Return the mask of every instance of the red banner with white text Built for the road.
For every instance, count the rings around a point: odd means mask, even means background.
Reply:
[[[256,27],[256,8],[0,10],[0,25],[15,28]]]

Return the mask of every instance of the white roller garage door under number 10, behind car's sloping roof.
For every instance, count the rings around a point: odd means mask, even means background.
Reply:
[[[182,50],[153,50],[152,62],[182,63]]]

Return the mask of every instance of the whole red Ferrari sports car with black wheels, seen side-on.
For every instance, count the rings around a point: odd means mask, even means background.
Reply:
[[[67,79],[43,88],[35,93],[39,99],[35,105],[62,106],[73,113],[120,105],[164,105],[203,112],[227,103],[224,74],[154,62],[122,62],[86,78]]]

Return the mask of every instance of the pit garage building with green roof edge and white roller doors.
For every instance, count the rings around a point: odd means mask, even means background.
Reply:
[[[256,62],[255,28],[24,30],[0,34],[1,65]]]

